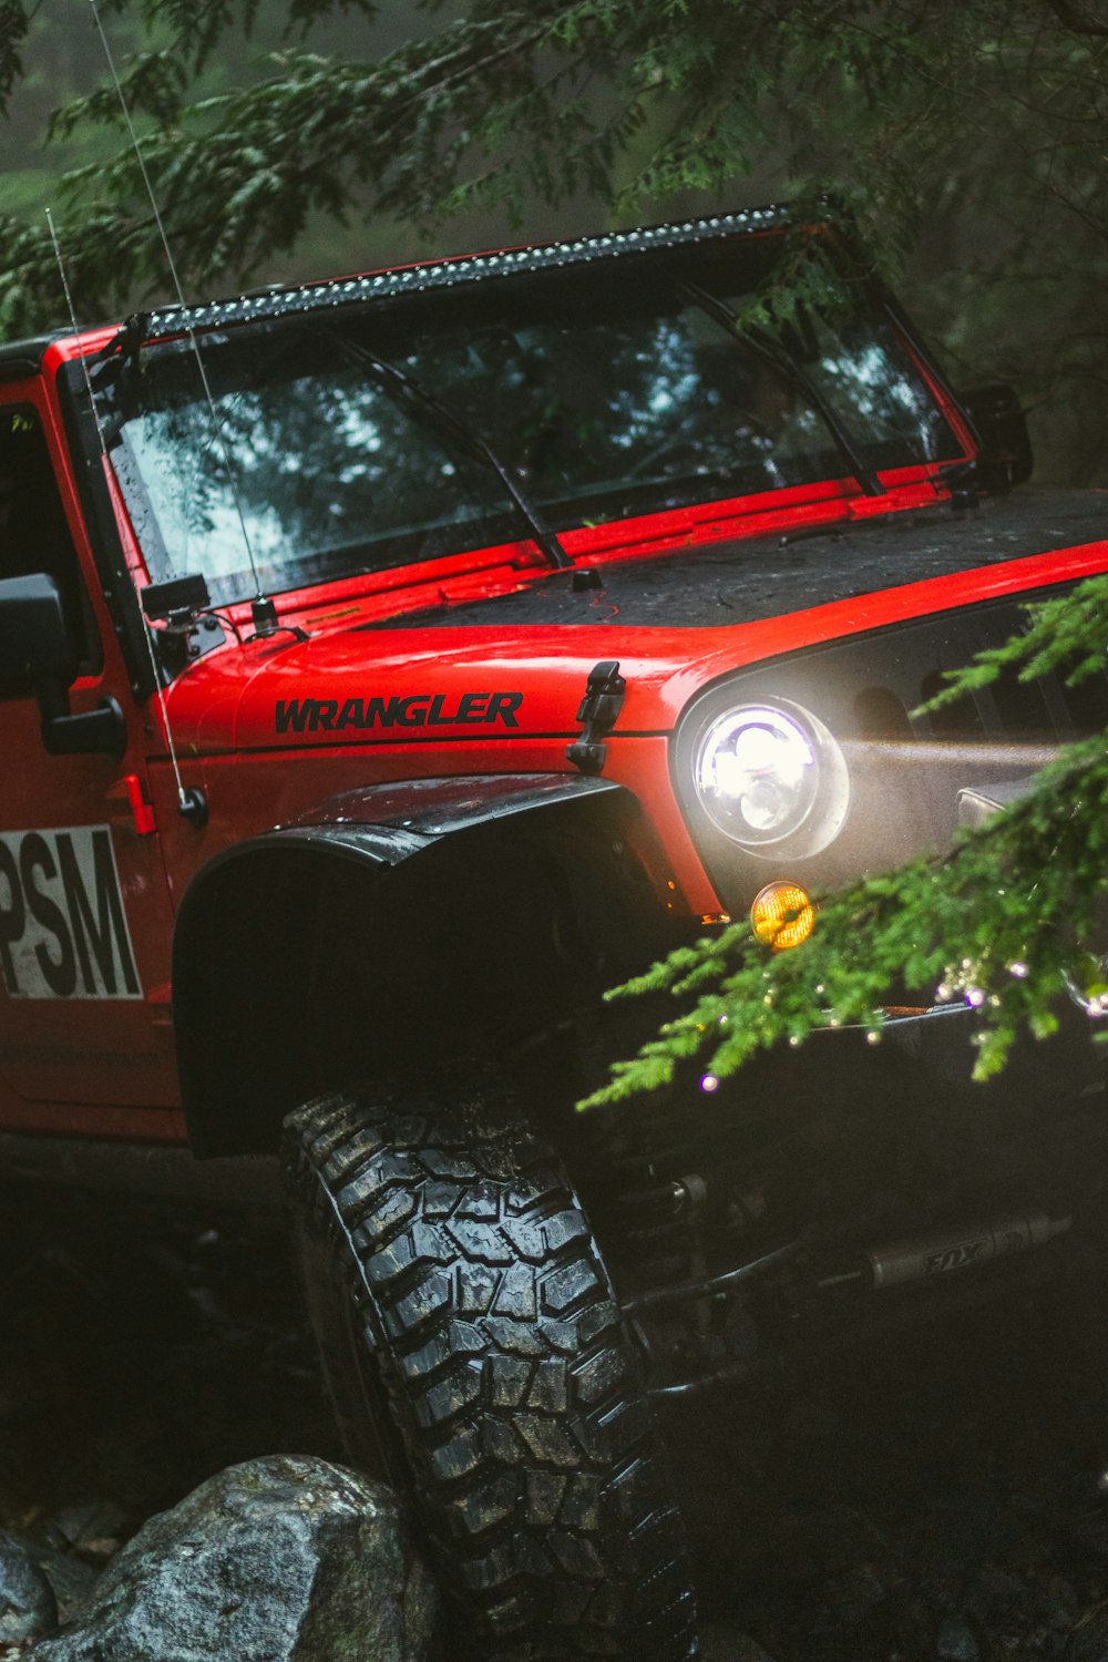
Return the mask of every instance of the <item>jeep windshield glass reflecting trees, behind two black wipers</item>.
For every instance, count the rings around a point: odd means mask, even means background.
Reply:
[[[884,314],[799,306],[774,332],[789,374],[698,302],[741,314],[779,241],[206,334],[214,420],[191,344],[148,347],[115,460],[151,578],[248,598],[243,524],[267,592],[528,538],[462,427],[555,532],[844,477],[842,435],[872,472],[957,457]]]

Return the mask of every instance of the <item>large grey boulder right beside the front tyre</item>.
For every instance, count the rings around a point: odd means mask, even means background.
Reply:
[[[151,1517],[35,1662],[424,1662],[437,1602],[390,1489],[274,1454]]]

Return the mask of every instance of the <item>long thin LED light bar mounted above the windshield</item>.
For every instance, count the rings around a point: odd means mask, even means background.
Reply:
[[[143,341],[161,341],[168,336],[188,334],[191,329],[219,329],[226,324],[252,322],[257,317],[327,311],[334,306],[389,299],[394,294],[410,294],[420,289],[453,288],[488,278],[515,276],[520,271],[543,271],[550,266],[581,266],[620,259],[626,254],[681,248],[718,236],[774,231],[792,223],[796,223],[794,216],[786,206],[746,208],[739,213],[684,219],[678,224],[608,231],[601,236],[580,236],[563,243],[538,243],[532,248],[513,248],[498,254],[467,254],[425,266],[380,271],[375,276],[337,278],[267,289],[261,294],[216,301],[209,306],[163,306],[158,311],[140,314],[133,319],[133,326]]]

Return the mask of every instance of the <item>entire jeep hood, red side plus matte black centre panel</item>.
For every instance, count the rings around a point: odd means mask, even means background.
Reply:
[[[620,733],[669,731],[734,668],[1108,568],[1108,492],[992,499],[865,525],[728,540],[550,573],[468,605],[306,642],[277,637],[174,683],[201,750],[575,735],[588,671],[618,658]],[[311,617],[309,617],[311,627]]]

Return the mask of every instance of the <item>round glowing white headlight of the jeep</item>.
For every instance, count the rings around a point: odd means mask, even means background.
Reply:
[[[819,854],[851,801],[834,738],[784,698],[714,716],[699,735],[693,773],[708,816],[751,853]]]

